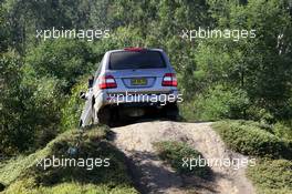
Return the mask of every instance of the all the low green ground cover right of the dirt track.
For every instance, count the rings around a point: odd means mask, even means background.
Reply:
[[[220,121],[212,127],[229,149],[257,156],[247,171],[257,193],[292,193],[291,141],[277,136],[273,126],[252,121]]]

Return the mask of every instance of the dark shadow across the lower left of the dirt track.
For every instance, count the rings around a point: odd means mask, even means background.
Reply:
[[[135,187],[142,193],[217,193],[213,180],[181,175],[150,152],[131,152],[126,163]],[[213,175],[212,175],[213,176]]]

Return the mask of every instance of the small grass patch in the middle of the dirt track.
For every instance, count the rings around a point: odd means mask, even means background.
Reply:
[[[186,165],[182,159],[195,160],[204,159],[202,155],[190,147],[188,144],[176,141],[163,141],[154,143],[154,147],[158,153],[158,156],[170,164],[170,166],[180,174],[197,175],[202,178],[211,177],[211,170],[209,166],[192,165],[190,167],[189,162]],[[185,164],[185,165],[184,165]]]

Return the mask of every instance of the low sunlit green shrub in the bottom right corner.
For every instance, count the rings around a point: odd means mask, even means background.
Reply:
[[[286,160],[258,160],[249,166],[248,177],[259,193],[286,194],[292,191],[292,162]]]

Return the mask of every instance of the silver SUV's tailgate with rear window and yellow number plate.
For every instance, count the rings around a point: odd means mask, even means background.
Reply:
[[[147,90],[161,86],[161,79],[169,72],[160,51],[125,50],[111,53],[108,72],[121,90]]]

